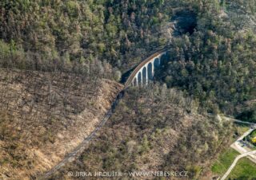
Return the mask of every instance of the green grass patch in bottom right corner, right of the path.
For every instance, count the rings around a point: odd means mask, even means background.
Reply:
[[[230,173],[229,179],[237,180],[255,180],[256,164],[248,158],[242,158]]]

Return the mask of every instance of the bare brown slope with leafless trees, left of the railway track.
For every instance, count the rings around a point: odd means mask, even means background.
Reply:
[[[0,179],[50,170],[90,135],[121,89],[93,77],[1,70]]]

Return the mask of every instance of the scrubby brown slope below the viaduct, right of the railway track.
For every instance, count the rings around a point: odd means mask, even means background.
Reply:
[[[113,170],[123,174],[116,179],[157,178],[129,175],[152,171],[188,171],[171,179],[210,179],[210,164],[230,144],[233,128],[200,112],[196,100],[176,89],[129,88],[90,147],[50,179],[106,178],[95,172]]]

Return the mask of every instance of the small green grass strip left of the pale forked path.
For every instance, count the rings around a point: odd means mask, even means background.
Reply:
[[[231,147],[227,149],[222,155],[218,157],[217,161],[214,162],[214,165],[211,166],[212,172],[219,175],[224,174],[237,155],[239,155],[239,153]]]

